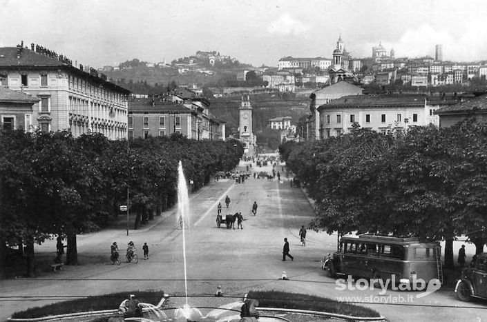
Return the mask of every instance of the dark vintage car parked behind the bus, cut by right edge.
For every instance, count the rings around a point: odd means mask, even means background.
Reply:
[[[472,297],[487,299],[487,252],[477,254],[477,259],[461,270],[455,293],[460,301],[470,301]]]

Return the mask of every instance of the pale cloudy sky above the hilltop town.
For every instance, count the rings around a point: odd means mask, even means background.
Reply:
[[[0,0],[0,47],[37,43],[94,67],[218,50],[254,66],[353,57],[379,41],[396,57],[487,59],[485,0]]]

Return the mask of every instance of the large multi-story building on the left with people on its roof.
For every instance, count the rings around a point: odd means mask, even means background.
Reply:
[[[1,84],[39,99],[30,122],[43,131],[67,130],[78,137],[99,132],[108,139],[127,136],[129,91],[90,68],[73,66],[55,52],[35,46],[0,48]]]

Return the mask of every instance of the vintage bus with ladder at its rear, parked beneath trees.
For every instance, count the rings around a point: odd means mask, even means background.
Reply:
[[[443,283],[439,243],[421,241],[417,237],[373,234],[342,237],[338,251],[325,256],[322,269],[328,276],[343,274],[374,280],[394,276],[394,281],[400,284],[411,283],[414,278],[426,283],[439,279]]]

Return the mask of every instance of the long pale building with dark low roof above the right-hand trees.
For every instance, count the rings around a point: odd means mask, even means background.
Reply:
[[[318,107],[321,137],[350,132],[354,124],[377,132],[407,130],[410,125],[439,125],[435,110],[455,103],[423,95],[354,95]]]

